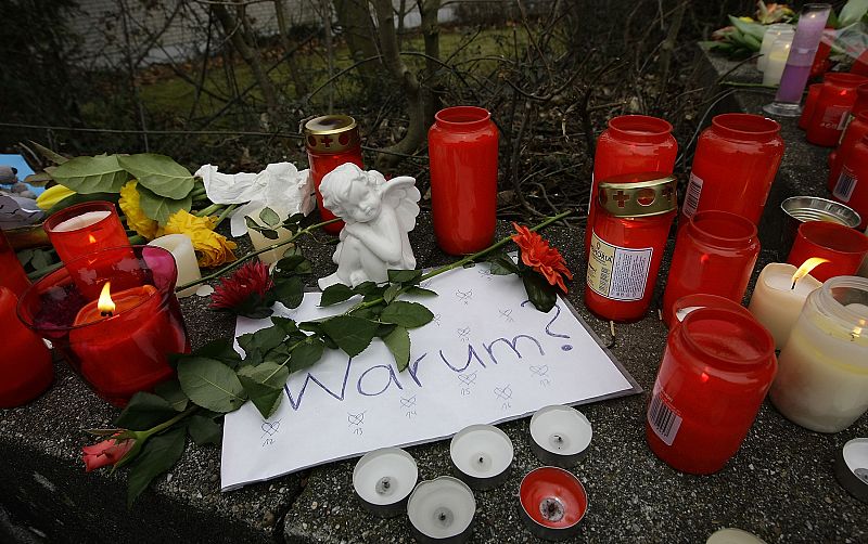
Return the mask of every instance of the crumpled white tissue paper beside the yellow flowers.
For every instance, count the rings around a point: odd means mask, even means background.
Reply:
[[[232,236],[247,233],[244,216],[258,219],[265,208],[275,210],[281,220],[294,213],[310,213],[317,205],[310,170],[298,171],[292,163],[268,165],[259,173],[221,173],[205,165],[195,176],[205,183],[205,193],[215,204],[242,204],[232,213]],[[246,204],[244,204],[246,203]]]

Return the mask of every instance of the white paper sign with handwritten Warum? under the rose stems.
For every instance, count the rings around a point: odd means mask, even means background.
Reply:
[[[303,468],[455,435],[468,425],[515,419],[549,404],[577,404],[641,388],[600,348],[563,299],[537,311],[514,275],[487,265],[425,282],[438,296],[417,298],[435,315],[410,332],[410,367],[401,373],[374,339],[355,359],[326,350],[290,376],[278,411],[264,420],[247,402],[226,416],[221,488],[231,490]],[[278,314],[297,322],[335,314],[320,294]],[[409,299],[408,299],[409,300]],[[240,318],[235,336],[270,325]]]

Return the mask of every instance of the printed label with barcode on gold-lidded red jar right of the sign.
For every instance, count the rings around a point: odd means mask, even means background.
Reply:
[[[595,232],[588,256],[588,287],[612,300],[640,300],[644,296],[653,251],[651,247],[613,246]]]

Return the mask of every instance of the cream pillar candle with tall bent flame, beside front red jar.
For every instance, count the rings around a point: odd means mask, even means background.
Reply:
[[[781,349],[787,344],[807,296],[822,285],[808,273],[824,262],[827,260],[814,257],[799,269],[792,264],[773,262],[760,273],[748,310],[771,333],[775,349]]]

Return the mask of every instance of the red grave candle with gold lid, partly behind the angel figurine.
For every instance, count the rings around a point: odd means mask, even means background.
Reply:
[[[359,128],[356,119],[348,115],[323,115],[305,122],[304,133],[310,176],[317,189],[319,215],[323,221],[329,221],[335,219],[335,215],[322,205],[319,184],[327,173],[344,163],[353,163],[359,168],[365,168],[361,161]],[[329,234],[337,234],[343,228],[343,221],[339,221],[322,229]]]

